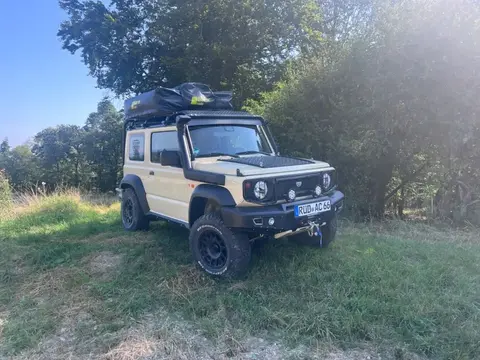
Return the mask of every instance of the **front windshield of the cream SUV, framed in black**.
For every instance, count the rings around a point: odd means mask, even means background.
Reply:
[[[189,130],[196,157],[272,153],[261,126],[203,125]]]

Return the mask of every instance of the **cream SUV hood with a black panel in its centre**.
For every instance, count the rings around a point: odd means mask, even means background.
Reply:
[[[260,157],[263,158],[263,161],[259,159]],[[330,167],[329,164],[322,161],[280,156],[242,156],[239,158],[222,156],[218,158],[197,159],[192,165],[195,170],[230,176],[237,176],[238,171],[243,176],[255,176],[273,175],[278,173],[298,173]]]

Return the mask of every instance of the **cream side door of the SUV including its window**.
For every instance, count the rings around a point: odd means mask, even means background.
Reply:
[[[149,141],[147,199],[159,216],[188,223],[191,189],[181,166],[162,166],[163,150],[178,150],[176,128],[152,130]]]

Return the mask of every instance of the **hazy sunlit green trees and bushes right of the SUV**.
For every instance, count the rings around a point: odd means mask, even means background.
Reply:
[[[404,1],[375,12],[337,62],[303,62],[247,107],[272,120],[286,152],[335,164],[359,214],[382,216],[408,185],[431,195],[434,184],[443,215],[465,219],[480,180],[478,9]]]

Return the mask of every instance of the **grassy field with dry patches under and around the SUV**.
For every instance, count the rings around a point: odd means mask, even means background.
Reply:
[[[342,224],[242,281],[191,264],[187,232],[125,233],[119,205],[32,198],[0,220],[0,358],[474,359],[480,235]]]

